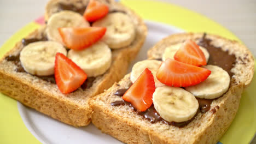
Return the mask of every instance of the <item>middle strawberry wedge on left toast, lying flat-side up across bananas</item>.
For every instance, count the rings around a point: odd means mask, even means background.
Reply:
[[[83,50],[96,43],[106,33],[105,27],[58,28],[63,43],[73,50]]]

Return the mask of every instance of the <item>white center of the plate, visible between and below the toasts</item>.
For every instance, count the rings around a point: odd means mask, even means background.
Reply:
[[[147,59],[148,49],[159,40],[167,37],[167,35],[183,32],[181,29],[162,23],[146,21],[146,24],[148,26],[146,42],[135,61],[130,64],[129,72],[133,64]],[[18,109],[28,130],[42,143],[122,143],[107,134],[101,133],[92,124],[88,127],[74,128],[30,109],[19,102]]]

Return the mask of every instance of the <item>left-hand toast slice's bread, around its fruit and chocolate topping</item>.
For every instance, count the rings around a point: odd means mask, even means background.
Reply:
[[[49,1],[46,9],[54,9],[54,4],[60,2],[63,1]],[[7,59],[8,56],[19,55],[22,47],[24,47],[20,41],[1,59],[0,91],[11,98],[19,100],[22,104],[63,123],[75,127],[88,125],[91,121],[92,113],[92,109],[89,106],[89,99],[102,93],[104,89],[112,86],[114,82],[119,81],[126,74],[129,63],[135,58],[147,35],[146,25],[144,25],[143,20],[132,10],[115,2],[110,3],[110,5],[132,17],[136,25],[136,39],[129,46],[112,50],[112,64],[110,68],[103,75],[95,77],[90,88],[79,88],[70,94],[62,94],[56,84],[39,79],[37,76],[25,72],[18,72],[19,67],[17,67],[15,62],[7,61]],[[51,14],[46,10],[46,20]],[[40,39],[42,35],[45,35],[45,26],[37,29],[28,35],[27,38]]]

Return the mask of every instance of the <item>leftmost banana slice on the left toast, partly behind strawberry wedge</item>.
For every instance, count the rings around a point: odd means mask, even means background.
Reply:
[[[28,44],[20,52],[22,67],[32,75],[46,76],[54,74],[57,52],[67,55],[67,50],[55,41],[39,41]]]

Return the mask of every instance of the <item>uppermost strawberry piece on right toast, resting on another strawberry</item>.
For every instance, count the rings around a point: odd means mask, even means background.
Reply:
[[[186,40],[181,48],[175,53],[174,59],[196,66],[206,65],[205,55],[202,50],[192,40]]]

